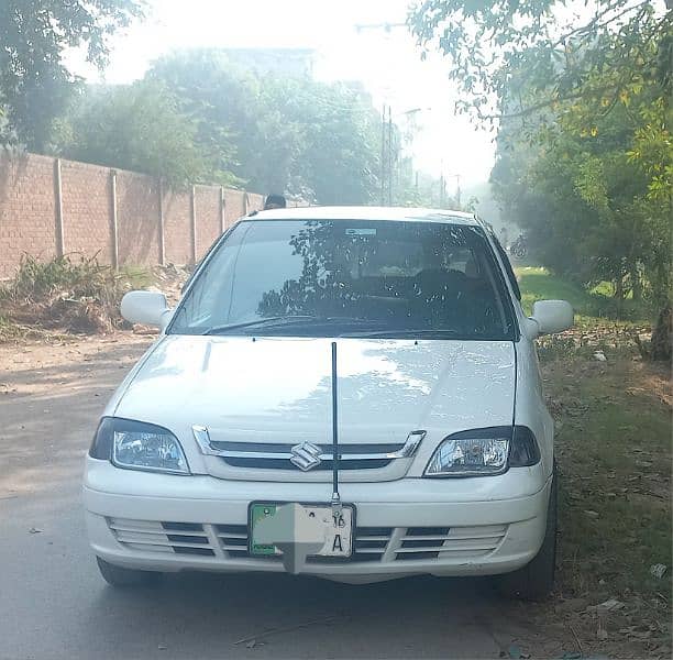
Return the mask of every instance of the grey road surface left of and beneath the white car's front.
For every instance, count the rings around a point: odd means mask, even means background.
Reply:
[[[539,637],[530,609],[485,580],[186,573],[107,586],[80,474],[97,416],[146,343],[0,346],[0,658],[498,658]]]

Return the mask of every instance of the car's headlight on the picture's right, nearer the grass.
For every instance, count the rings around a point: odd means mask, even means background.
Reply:
[[[492,427],[445,438],[426,468],[424,476],[487,476],[508,468],[534,465],[540,450],[527,427]]]

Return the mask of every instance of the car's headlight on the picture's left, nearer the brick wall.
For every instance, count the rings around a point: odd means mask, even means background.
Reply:
[[[89,455],[129,470],[189,474],[185,452],[169,430],[132,419],[103,417]]]

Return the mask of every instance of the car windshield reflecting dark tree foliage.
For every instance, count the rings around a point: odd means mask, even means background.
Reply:
[[[478,227],[247,220],[213,251],[169,333],[511,339]]]

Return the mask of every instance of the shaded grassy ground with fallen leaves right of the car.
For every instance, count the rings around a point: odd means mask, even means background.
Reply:
[[[544,375],[562,475],[561,590],[592,604],[622,601],[616,627],[670,645],[670,374],[575,359]],[[650,573],[654,564],[666,566],[663,578]]]

